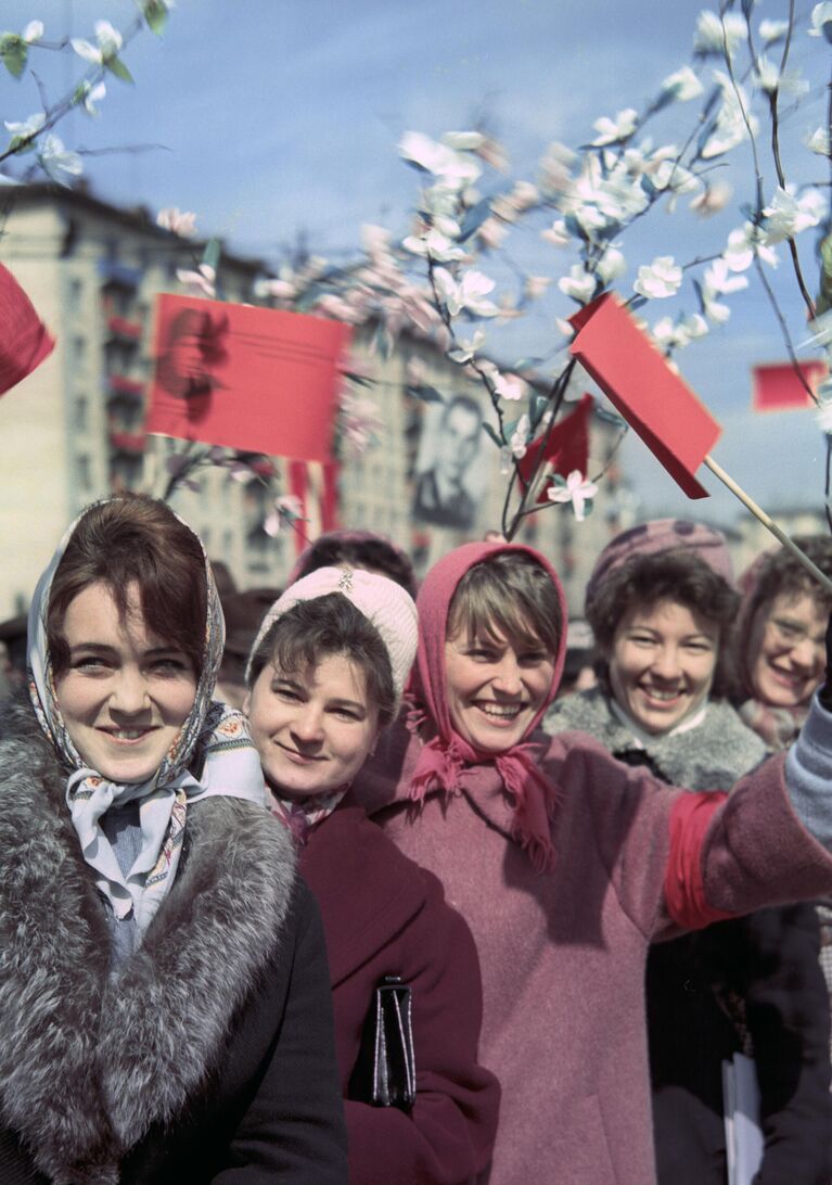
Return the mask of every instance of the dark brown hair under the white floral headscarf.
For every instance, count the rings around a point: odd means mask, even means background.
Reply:
[[[46,638],[56,675],[69,666],[63,623],[72,601],[90,584],[113,594],[119,616],[139,585],[147,629],[183,651],[201,674],[207,579],[199,539],[173,511],[145,494],[96,502],[78,520],[52,578]]]

